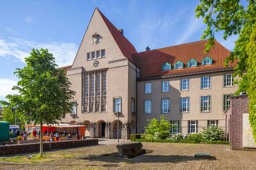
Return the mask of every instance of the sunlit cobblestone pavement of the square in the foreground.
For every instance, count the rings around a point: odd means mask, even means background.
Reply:
[[[114,154],[117,151],[115,146],[58,151],[76,153],[78,157],[44,164],[0,162],[0,169],[256,169],[256,152],[232,151],[228,145],[143,143],[143,147],[151,152],[133,159],[123,159]],[[198,152],[210,153],[212,159],[194,159],[193,154]]]

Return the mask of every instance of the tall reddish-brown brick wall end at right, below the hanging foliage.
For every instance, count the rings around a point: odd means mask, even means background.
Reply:
[[[225,113],[231,149],[242,149],[242,113],[249,113],[248,103],[247,95],[233,96],[231,106]]]

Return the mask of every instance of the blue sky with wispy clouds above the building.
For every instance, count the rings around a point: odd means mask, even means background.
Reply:
[[[206,28],[194,17],[199,1],[0,0],[0,100],[14,94],[13,74],[24,67],[32,47],[47,47],[59,66],[72,64],[95,7],[110,19],[137,51],[200,40]],[[232,50],[237,36],[217,40]]]

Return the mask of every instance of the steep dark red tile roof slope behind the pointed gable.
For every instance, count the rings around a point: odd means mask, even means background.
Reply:
[[[114,40],[117,42],[119,49],[122,51],[122,54],[127,57],[131,62],[134,62],[132,54],[137,53],[137,50],[134,48],[131,42],[122,35],[119,30],[103,15],[103,13],[97,8],[105,21],[107,28],[110,30]]]

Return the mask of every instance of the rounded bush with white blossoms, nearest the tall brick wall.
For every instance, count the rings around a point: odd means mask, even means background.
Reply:
[[[224,140],[225,131],[218,126],[211,125],[201,131],[204,141]]]

